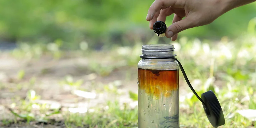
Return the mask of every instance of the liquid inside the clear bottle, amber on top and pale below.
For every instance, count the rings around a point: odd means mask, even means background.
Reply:
[[[179,127],[179,70],[138,68],[139,128]]]

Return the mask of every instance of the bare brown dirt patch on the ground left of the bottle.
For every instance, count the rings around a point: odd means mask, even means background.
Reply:
[[[81,96],[72,93],[72,89],[68,86],[61,86],[59,82],[67,75],[71,75],[74,80],[83,79],[81,88],[84,88],[88,92],[103,89],[103,84],[109,84],[113,81],[121,81],[118,89],[123,91],[124,94],[118,99],[120,104],[127,102],[131,106],[135,107],[137,102],[132,101],[129,98],[129,91],[137,93],[137,67],[124,67],[119,70],[114,70],[109,76],[100,76],[94,72],[88,70],[90,58],[66,58],[60,60],[52,60],[50,57],[42,57],[40,60],[18,60],[10,57],[6,53],[0,55],[0,81],[2,87],[0,90],[0,120],[14,119],[14,116],[6,108],[13,102],[12,98],[16,98],[16,101],[25,99],[27,91],[29,89],[35,90],[37,95],[41,98],[37,102],[44,102],[49,104],[58,104],[63,108],[69,107],[86,107],[96,106],[102,104],[102,102],[111,100],[107,92],[96,93],[96,97],[91,100],[83,98]],[[17,80],[17,73],[20,70],[25,71],[25,76],[22,80]],[[127,75],[129,76],[127,79]],[[35,77],[36,82],[34,86],[22,87],[17,89],[18,83],[26,83],[31,78]],[[90,84],[92,81],[96,84]],[[97,84],[101,83],[101,84]],[[184,86],[183,82],[180,82],[180,87]],[[185,91],[180,90],[180,95],[186,94]],[[15,101],[14,101],[15,102]],[[10,128],[39,128],[41,124],[32,122],[29,126],[27,124],[12,124]],[[61,124],[62,123],[62,124]],[[0,123],[0,127],[1,123]],[[45,125],[45,128],[51,127],[65,127],[63,122],[58,125]]]

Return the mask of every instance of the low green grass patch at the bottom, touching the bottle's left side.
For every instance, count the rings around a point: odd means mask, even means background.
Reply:
[[[66,118],[67,126],[74,123],[84,127],[127,127],[137,125],[137,109],[129,109],[127,105],[120,108],[118,101],[108,101],[106,107],[88,112],[86,115],[70,114]]]

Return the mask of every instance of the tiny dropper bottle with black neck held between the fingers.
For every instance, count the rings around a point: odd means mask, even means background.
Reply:
[[[167,27],[164,22],[158,20],[153,25],[153,30],[159,37],[164,37]]]

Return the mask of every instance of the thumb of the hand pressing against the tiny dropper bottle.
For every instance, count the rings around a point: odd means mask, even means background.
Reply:
[[[170,25],[165,32],[165,36],[167,38],[171,38],[172,36],[178,34],[179,32],[184,31],[188,28],[193,28],[193,27],[196,27],[196,23],[194,23],[194,20],[190,20],[188,17],[186,17],[185,19]]]

